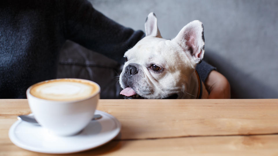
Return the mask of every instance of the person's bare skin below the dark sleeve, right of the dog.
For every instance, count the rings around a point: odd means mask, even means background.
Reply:
[[[206,89],[210,92],[208,99],[230,99],[231,86],[226,77],[213,70],[205,81]]]

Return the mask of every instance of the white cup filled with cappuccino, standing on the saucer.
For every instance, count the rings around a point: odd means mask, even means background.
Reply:
[[[69,136],[80,132],[93,118],[100,86],[84,79],[53,79],[30,86],[26,95],[42,127]]]

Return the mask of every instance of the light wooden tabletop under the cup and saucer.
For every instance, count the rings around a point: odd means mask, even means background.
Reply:
[[[278,99],[100,100],[121,122],[111,142],[69,155],[278,155]],[[8,130],[26,99],[0,99],[0,155],[47,155],[21,149]]]

